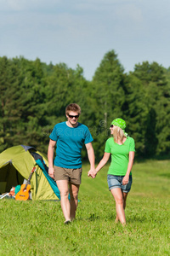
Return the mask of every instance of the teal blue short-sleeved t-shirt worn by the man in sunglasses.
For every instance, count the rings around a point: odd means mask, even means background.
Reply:
[[[78,123],[77,127],[71,128],[66,122],[55,125],[49,137],[57,145],[54,166],[73,169],[82,167],[83,143],[94,140],[86,125]]]

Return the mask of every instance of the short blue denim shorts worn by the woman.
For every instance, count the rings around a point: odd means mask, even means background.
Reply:
[[[124,176],[116,176],[116,175],[107,175],[107,183],[109,186],[109,189],[116,189],[120,188],[122,189],[122,192],[128,193],[131,189],[131,185],[133,183],[133,177],[132,175],[129,176],[128,183],[126,185],[122,185],[122,179]]]

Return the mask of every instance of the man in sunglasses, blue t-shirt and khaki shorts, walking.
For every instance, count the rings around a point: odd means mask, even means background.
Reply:
[[[88,151],[90,171],[88,175],[94,177],[94,140],[86,125],[78,123],[81,108],[71,103],[65,108],[66,122],[54,126],[50,134],[48,145],[48,174],[57,183],[60,192],[60,204],[65,217],[65,224],[71,223],[76,216],[78,205],[78,190],[82,176],[82,146]],[[54,160],[54,148],[56,157]],[[68,195],[70,193],[70,201]]]

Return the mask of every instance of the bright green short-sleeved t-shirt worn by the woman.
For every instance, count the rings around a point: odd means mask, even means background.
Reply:
[[[114,142],[114,138],[110,137],[105,143],[105,152],[111,153],[111,166],[108,174],[124,176],[127,172],[128,154],[135,151],[134,140],[127,137],[125,143],[119,145]],[[130,173],[132,175],[132,173]]]

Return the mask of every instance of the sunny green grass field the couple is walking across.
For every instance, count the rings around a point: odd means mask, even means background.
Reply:
[[[64,225],[59,201],[0,201],[0,255],[170,255],[170,161],[133,166],[127,226],[115,224],[105,166],[83,165],[77,218]]]

